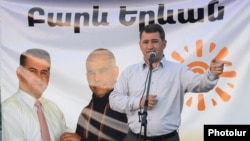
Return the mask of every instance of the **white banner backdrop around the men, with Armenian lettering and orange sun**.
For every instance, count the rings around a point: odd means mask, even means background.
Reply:
[[[168,60],[197,73],[204,73],[215,57],[232,62],[213,90],[185,94],[181,140],[202,141],[205,124],[250,124],[248,0],[1,0],[0,6],[2,102],[18,89],[20,53],[43,48],[52,59],[43,96],[60,107],[74,132],[92,96],[88,54],[110,49],[121,73],[143,60],[139,30],[159,23],[166,32]]]

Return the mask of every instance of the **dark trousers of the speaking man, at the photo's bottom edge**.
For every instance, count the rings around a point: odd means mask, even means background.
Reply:
[[[159,139],[157,139],[157,140],[146,139],[145,140],[144,136],[136,136],[134,133],[129,131],[123,141],[180,141],[180,139],[179,139],[179,135],[177,133],[174,136],[171,136],[171,137],[165,138],[165,139],[160,139],[160,140]]]

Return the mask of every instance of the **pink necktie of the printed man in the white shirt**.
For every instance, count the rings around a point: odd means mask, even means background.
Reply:
[[[42,140],[50,141],[49,128],[46,123],[46,119],[44,117],[43,111],[42,111],[42,104],[39,100],[37,100],[35,103],[35,106],[37,107],[37,115],[38,115],[38,119],[40,123]]]

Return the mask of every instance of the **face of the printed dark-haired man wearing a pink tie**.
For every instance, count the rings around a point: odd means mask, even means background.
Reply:
[[[25,66],[17,69],[21,90],[40,98],[48,86],[50,64],[43,59],[28,55]]]

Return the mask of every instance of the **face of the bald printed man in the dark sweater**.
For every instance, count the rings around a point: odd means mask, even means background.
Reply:
[[[86,63],[86,69],[89,87],[96,96],[103,97],[113,89],[119,70],[107,55],[92,56]]]

